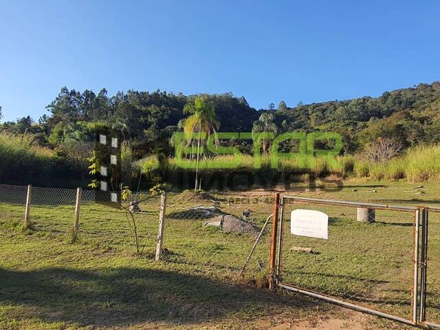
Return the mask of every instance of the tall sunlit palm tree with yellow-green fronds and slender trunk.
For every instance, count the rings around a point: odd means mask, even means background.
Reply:
[[[200,144],[208,139],[212,133],[217,133],[220,123],[215,116],[214,104],[208,100],[206,96],[197,96],[194,103],[188,102],[184,107],[184,113],[189,113],[189,117],[184,120],[184,133],[188,144],[192,144],[193,133],[199,133],[197,139],[197,164],[195,168],[195,188],[199,181],[199,157]],[[204,134],[206,133],[206,135]],[[205,136],[203,136],[205,135]]]

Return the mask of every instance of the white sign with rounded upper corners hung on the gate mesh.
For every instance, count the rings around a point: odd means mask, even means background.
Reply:
[[[329,239],[329,216],[316,210],[293,210],[290,232],[292,235]]]

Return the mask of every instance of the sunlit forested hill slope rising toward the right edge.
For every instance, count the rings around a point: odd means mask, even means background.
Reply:
[[[376,137],[394,137],[411,146],[440,142],[440,82],[369,96],[285,107],[274,111],[282,131],[337,131],[355,151]]]

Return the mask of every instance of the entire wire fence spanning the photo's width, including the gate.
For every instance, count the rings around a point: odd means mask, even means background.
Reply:
[[[32,230],[71,237],[77,193],[32,187]],[[283,196],[274,240],[270,192],[186,190],[169,192],[165,200],[140,192],[120,208],[97,203],[97,194],[80,194],[78,236],[100,252],[141,253],[167,267],[259,286],[274,275],[285,289],[408,324],[440,325],[440,209]],[[27,196],[27,186],[0,184],[0,226],[23,223]],[[328,214],[328,239],[293,235],[289,220],[297,209]]]

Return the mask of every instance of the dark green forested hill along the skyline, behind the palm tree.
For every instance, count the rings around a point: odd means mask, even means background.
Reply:
[[[165,91],[127,91],[114,96],[102,89],[83,92],[66,87],[47,105],[48,115],[38,123],[25,117],[6,122],[3,131],[36,136],[41,144],[56,146],[67,140],[87,140],[97,122],[122,131],[144,153],[166,144],[173,132],[181,129],[184,105],[195,96]],[[343,135],[344,151],[356,151],[375,137],[394,137],[405,146],[419,142],[440,142],[440,82],[386,91],[379,98],[298,104],[256,110],[244,97],[232,94],[208,96],[214,104],[220,131],[252,131],[270,127],[276,133],[286,131],[337,131]],[[6,109],[4,109],[6,110]],[[259,121],[263,113],[265,115]],[[142,156],[142,155],[139,155]]]

